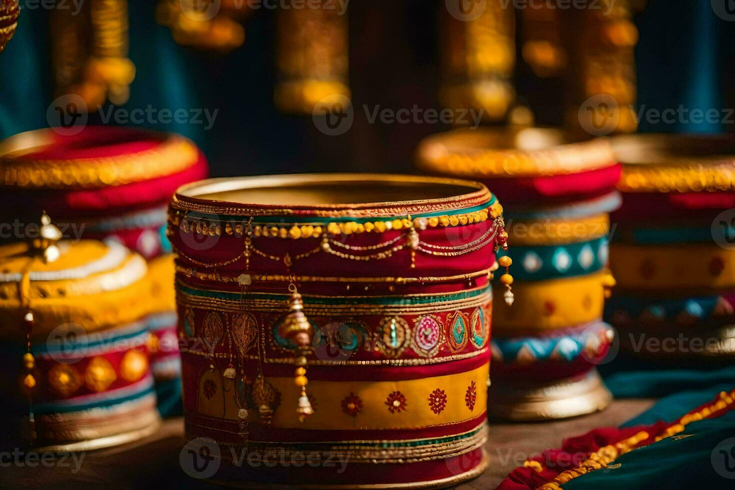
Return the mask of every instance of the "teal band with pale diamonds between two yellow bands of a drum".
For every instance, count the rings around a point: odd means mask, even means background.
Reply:
[[[509,253],[498,251],[498,257],[504,255],[512,256],[510,272],[514,278],[520,281],[542,281],[602,270],[607,264],[609,246],[606,237],[602,237],[569,245],[513,247]]]

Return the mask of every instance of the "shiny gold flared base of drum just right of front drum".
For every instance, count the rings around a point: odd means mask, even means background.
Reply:
[[[514,421],[566,419],[606,408],[612,394],[597,370],[584,378],[567,378],[530,389],[493,384],[488,393],[490,417]]]

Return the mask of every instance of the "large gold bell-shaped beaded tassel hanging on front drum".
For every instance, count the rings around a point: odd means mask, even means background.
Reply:
[[[298,397],[296,414],[298,414],[299,421],[304,422],[306,417],[314,413],[312,404],[309,402],[309,397],[306,395],[306,384],[309,383],[309,380],[306,378],[306,364],[308,364],[306,353],[309,350],[313,328],[309,320],[306,319],[304,302],[301,300],[301,295],[298,294],[295,284],[290,284],[288,290],[291,292],[291,297],[288,300],[289,313],[279,327],[279,334],[284,339],[290,340],[290,342],[296,345],[296,367],[293,372],[293,381],[301,390],[301,394]]]

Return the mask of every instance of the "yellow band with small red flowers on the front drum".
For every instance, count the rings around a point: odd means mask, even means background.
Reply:
[[[274,428],[318,430],[415,429],[474,419],[487,407],[490,365],[459,374],[406,381],[309,381],[314,414],[299,422],[293,407],[299,390],[293,378],[266,378],[282,396]],[[256,380],[254,383],[258,383]],[[218,369],[201,371],[198,414],[239,420],[234,381]],[[471,407],[471,408],[470,408]],[[248,410],[248,422],[259,422]]]

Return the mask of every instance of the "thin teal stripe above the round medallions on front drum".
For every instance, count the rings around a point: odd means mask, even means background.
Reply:
[[[186,287],[182,284],[176,284],[176,289],[184,292],[190,296],[198,296],[201,298],[215,298],[220,300],[229,301],[240,301],[242,295],[239,292],[223,292],[223,291],[206,291],[204,289],[193,289]],[[478,296],[487,294],[492,291],[492,287],[484,287],[482,289],[475,289],[473,291],[463,291],[457,293],[451,293],[447,295],[431,295],[431,296],[418,296],[418,297],[398,297],[398,296],[376,296],[376,297],[365,297],[360,298],[314,298],[312,296],[304,296],[304,303],[312,305],[331,305],[336,300],[340,301],[343,305],[392,305],[392,306],[412,306],[412,305],[423,305],[427,303],[443,303],[445,301],[453,300],[465,300],[470,298],[477,298]],[[250,293],[256,296],[258,299],[273,300],[284,302],[289,295],[275,295],[271,293]]]

